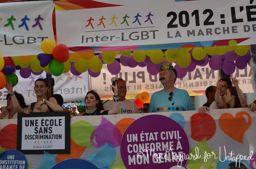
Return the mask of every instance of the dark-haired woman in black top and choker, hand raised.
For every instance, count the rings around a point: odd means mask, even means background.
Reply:
[[[86,109],[83,112],[78,112],[76,106],[71,106],[72,112],[76,113],[77,116],[94,116],[94,115],[107,115],[107,114],[117,114],[119,106],[118,106],[118,94],[117,94],[117,86],[111,85],[114,88],[114,106],[112,110],[104,110],[103,104],[100,100],[100,96],[97,92],[91,90],[87,92],[85,96]]]

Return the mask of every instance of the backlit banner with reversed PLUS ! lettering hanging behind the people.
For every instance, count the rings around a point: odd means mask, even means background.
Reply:
[[[175,65],[175,64],[173,64]],[[179,72],[178,72],[179,73]],[[236,69],[232,77],[237,73],[239,86],[244,93],[254,92],[252,89],[252,69],[247,66],[245,69]],[[101,74],[97,78],[91,78],[92,89],[100,94],[102,99],[110,99],[113,95],[110,87],[111,82],[116,78],[122,78],[126,81],[127,97],[134,98],[136,94],[148,92],[150,94],[162,90],[163,86],[159,81],[159,74],[150,75],[146,67],[124,67],[118,75],[109,75],[107,66],[103,65]],[[220,71],[212,70],[209,65],[204,67],[197,66],[192,72],[188,72],[182,79],[177,79],[175,87],[187,90],[190,96],[204,95],[208,86],[216,86],[220,79]]]

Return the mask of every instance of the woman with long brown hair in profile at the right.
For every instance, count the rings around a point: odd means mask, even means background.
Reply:
[[[216,104],[219,108],[241,108],[241,103],[238,98],[236,87],[228,87],[223,96],[223,101],[221,98],[216,100]]]

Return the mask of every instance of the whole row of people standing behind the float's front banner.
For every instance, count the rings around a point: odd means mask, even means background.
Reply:
[[[150,103],[143,104],[143,113],[195,110],[188,92],[174,86],[176,79],[177,71],[169,63],[164,63],[161,67],[159,78],[164,88],[152,94]],[[113,100],[109,100],[104,104],[102,104],[97,92],[93,90],[87,92],[84,99],[86,109],[82,112],[78,111],[76,105],[70,106],[70,110],[62,108],[63,98],[60,94],[53,94],[47,98],[47,86],[45,79],[37,79],[35,81],[36,102],[28,105],[26,109],[22,94],[13,91],[11,82],[7,83],[6,89],[10,93],[6,96],[7,107],[6,110],[0,113],[0,119],[17,118],[17,112],[30,114],[33,112],[72,111],[75,116],[139,113],[136,104],[126,99],[126,81],[121,78],[117,78],[112,82]],[[209,86],[206,89],[205,94],[207,102],[198,109],[201,114],[210,109],[220,108],[248,107],[252,112],[256,110],[256,101],[247,104],[236,77],[218,80],[216,86]]]

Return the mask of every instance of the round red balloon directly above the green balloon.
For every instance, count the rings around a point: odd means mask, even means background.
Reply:
[[[69,53],[68,53],[68,47],[64,44],[58,44],[52,51],[52,56],[56,61],[59,62],[66,62],[68,61]]]

